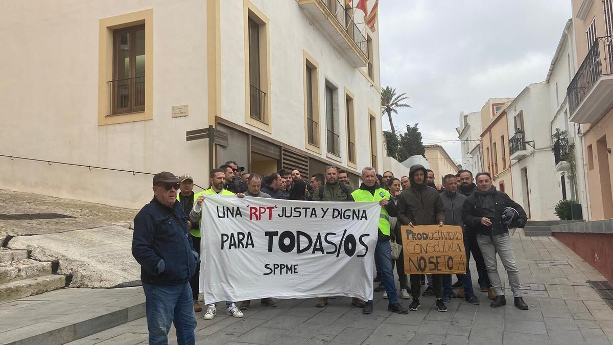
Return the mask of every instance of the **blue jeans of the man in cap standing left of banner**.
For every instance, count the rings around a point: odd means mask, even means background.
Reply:
[[[177,329],[178,344],[194,344],[196,314],[189,282],[183,285],[143,284],[149,344],[168,344],[170,324]]]

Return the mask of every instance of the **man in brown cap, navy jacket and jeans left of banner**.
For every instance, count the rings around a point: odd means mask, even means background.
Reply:
[[[189,279],[200,260],[189,236],[188,217],[177,201],[179,185],[172,172],[153,176],[153,200],[134,218],[132,255],[140,264],[150,344],[167,344],[173,322],[177,343],[195,342]]]

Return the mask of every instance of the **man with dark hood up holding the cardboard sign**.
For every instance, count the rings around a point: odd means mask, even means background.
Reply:
[[[445,222],[445,207],[440,194],[435,188],[428,187],[427,172],[424,166],[416,164],[409,169],[411,187],[403,190],[398,196],[398,222],[401,225],[414,227],[416,225],[434,225],[441,227]],[[411,295],[413,301],[409,304],[409,310],[416,311],[419,308],[419,293],[421,293],[420,274],[411,274]],[[432,285],[436,296],[436,308],[438,311],[447,311],[443,303],[443,276],[432,275]]]

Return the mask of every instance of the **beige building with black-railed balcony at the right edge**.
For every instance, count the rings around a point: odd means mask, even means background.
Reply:
[[[572,0],[577,68],[570,121],[581,123],[590,220],[613,218],[613,1]]]

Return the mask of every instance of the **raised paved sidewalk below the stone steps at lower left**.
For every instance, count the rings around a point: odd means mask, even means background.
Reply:
[[[60,289],[0,303],[0,344],[63,344],[140,319],[142,291]]]

